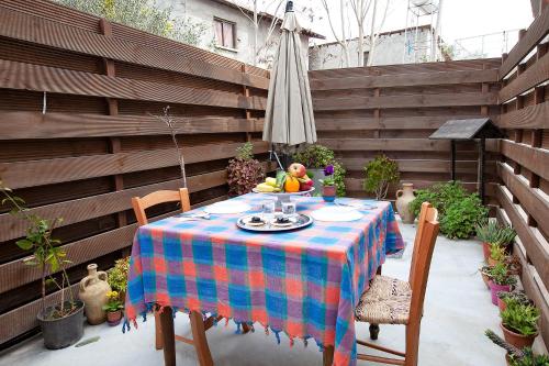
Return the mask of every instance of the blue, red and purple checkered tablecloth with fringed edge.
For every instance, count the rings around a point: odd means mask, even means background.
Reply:
[[[265,196],[234,200],[259,210]],[[298,211],[326,204],[334,203],[300,199]],[[284,332],[291,344],[313,337],[321,348],[335,346],[335,365],[352,365],[355,306],[385,254],[404,247],[391,204],[374,204],[358,221],[317,221],[285,233],[243,231],[236,226],[242,214],[168,218],[142,226],[132,249],[125,326],[153,304],[197,310],[237,324],[260,323],[279,341]]]

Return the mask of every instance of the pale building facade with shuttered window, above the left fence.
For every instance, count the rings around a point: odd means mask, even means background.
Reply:
[[[160,7],[171,7],[172,14],[184,16],[206,25],[200,47],[209,48],[223,56],[238,59],[243,63],[270,68],[277,51],[280,36],[281,19],[272,14],[259,13],[257,36],[257,55],[254,53],[255,27],[250,18],[254,12],[239,8],[229,0],[157,0]],[[277,29],[269,36],[272,22]],[[304,51],[309,48],[310,38],[324,38],[321,34],[303,30],[301,43]]]

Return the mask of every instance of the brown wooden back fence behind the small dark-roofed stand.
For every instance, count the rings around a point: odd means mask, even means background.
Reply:
[[[348,169],[348,192],[363,195],[363,167],[379,154],[396,159],[401,180],[416,188],[449,180],[450,142],[428,136],[449,119],[496,121],[500,65],[479,59],[311,71],[318,138]],[[457,149],[458,179],[474,190],[475,144],[458,143]],[[489,180],[495,178],[497,151],[497,141],[489,141]],[[395,188],[388,198],[394,199]]]

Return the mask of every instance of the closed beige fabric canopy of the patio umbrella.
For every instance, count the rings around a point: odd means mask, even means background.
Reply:
[[[300,31],[289,1],[265,111],[264,141],[274,144],[292,146],[316,142],[313,102]]]

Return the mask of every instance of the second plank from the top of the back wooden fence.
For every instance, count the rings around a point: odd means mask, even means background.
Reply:
[[[311,91],[314,91],[495,81],[497,81],[497,69],[314,78],[310,82]]]

